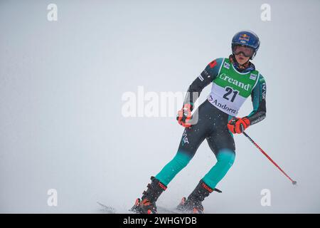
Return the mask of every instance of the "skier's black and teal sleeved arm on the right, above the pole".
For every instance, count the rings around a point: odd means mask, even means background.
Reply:
[[[266,108],[266,92],[267,92],[267,86],[265,83],[265,78],[263,78],[262,75],[260,75],[259,81],[257,82],[257,85],[252,90],[251,93],[251,100],[253,105],[252,112],[247,115],[247,118],[250,120],[250,125],[253,125],[255,123],[259,123],[261,120],[265,119],[267,108]]]

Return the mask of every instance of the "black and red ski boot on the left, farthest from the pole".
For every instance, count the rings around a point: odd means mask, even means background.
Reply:
[[[151,183],[146,187],[148,189],[142,193],[142,199],[136,199],[131,211],[137,214],[156,214],[156,200],[166,190],[166,185],[151,177]]]

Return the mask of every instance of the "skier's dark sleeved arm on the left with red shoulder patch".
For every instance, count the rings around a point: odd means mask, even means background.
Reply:
[[[193,83],[188,88],[186,98],[183,102],[183,107],[186,104],[191,105],[191,110],[193,110],[193,104],[198,99],[203,88],[208,86],[215,78],[218,76],[220,65],[223,63],[223,58],[216,58],[206,66],[206,68],[201,72],[200,76],[196,78]]]

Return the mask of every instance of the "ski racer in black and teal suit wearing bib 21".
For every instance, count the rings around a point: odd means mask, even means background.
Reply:
[[[203,213],[203,200],[223,179],[235,161],[233,134],[240,134],[250,125],[266,117],[266,83],[263,76],[250,62],[260,46],[258,36],[252,31],[240,31],[233,36],[232,54],[228,58],[216,58],[188,88],[183,108],[177,120],[185,127],[178,152],[164,166],[137,199],[132,211],[142,214],[156,213],[156,200],[166,190],[169,182],[188,165],[203,140],[207,140],[217,162],[200,180],[191,195],[183,197],[177,209],[182,212]],[[213,83],[208,99],[198,108],[198,122],[191,125],[193,104],[201,90]],[[251,95],[253,110],[237,118],[238,110]]]

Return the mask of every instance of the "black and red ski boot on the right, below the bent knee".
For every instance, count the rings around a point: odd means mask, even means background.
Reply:
[[[190,214],[203,214],[203,200],[210,195],[211,192],[221,192],[218,189],[212,189],[208,185],[206,185],[203,180],[201,180],[195,190],[191,192],[191,195],[188,196],[188,199],[186,197],[183,197],[181,199],[180,204],[178,204],[178,211],[190,213]]]

